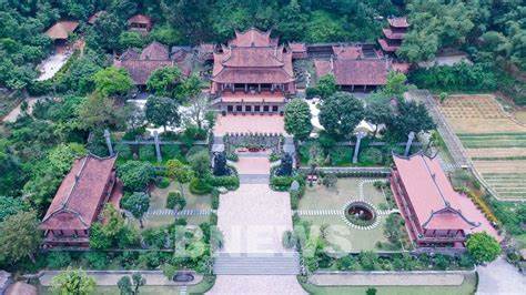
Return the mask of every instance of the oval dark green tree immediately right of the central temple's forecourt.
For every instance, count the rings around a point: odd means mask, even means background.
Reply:
[[[311,110],[302,99],[294,99],[285,105],[285,131],[297,140],[305,140],[312,132]]]

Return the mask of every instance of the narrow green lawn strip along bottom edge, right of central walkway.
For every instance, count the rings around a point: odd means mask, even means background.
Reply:
[[[464,283],[459,286],[337,286],[321,287],[312,284],[302,284],[310,294],[323,295],[353,295],[365,294],[370,287],[375,287],[377,295],[471,295],[475,294],[477,277],[475,274],[466,275]]]

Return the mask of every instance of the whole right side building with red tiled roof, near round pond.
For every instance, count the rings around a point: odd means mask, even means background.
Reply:
[[[453,189],[435,157],[394,155],[391,187],[418,246],[463,248],[468,234],[483,231],[502,240],[469,197]]]

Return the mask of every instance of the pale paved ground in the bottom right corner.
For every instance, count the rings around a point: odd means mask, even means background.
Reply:
[[[498,258],[487,266],[477,267],[478,295],[514,295],[526,293],[526,276],[504,258]]]

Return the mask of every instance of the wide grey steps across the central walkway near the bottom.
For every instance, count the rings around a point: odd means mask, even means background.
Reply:
[[[297,253],[220,253],[215,257],[216,275],[297,275],[300,255]]]

